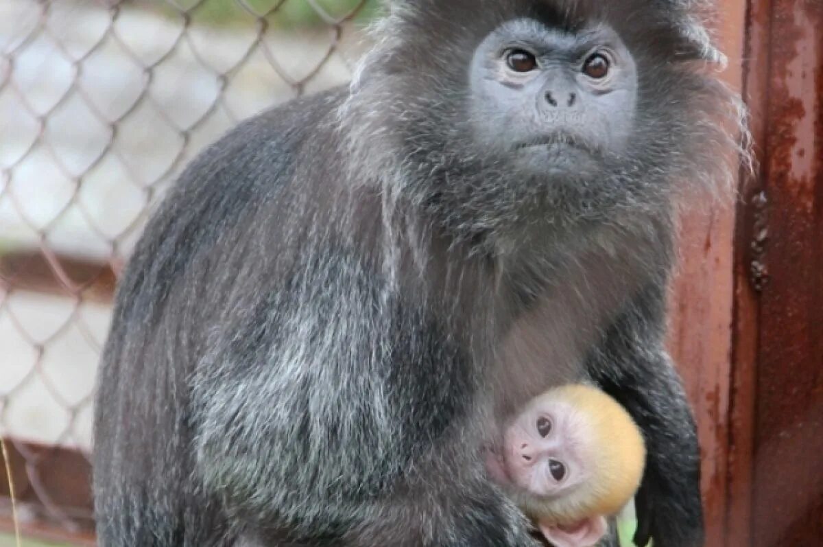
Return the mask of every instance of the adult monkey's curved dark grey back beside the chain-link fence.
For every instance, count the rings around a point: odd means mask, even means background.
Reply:
[[[277,223],[271,217],[287,207],[297,149],[331,130],[321,120],[344,96],[328,91],[240,124],[188,166],[148,223],[120,282],[100,363],[100,545],[230,544],[219,503],[195,473],[190,387],[218,318],[243,306],[237,280],[260,265],[244,259],[265,251],[249,248],[259,241],[252,232]]]

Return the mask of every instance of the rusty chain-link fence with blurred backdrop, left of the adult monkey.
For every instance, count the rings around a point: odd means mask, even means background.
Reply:
[[[92,540],[95,368],[116,278],[151,208],[239,119],[346,82],[375,9],[0,2],[0,434],[24,526]]]

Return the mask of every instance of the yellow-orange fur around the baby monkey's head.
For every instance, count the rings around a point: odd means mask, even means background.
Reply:
[[[536,521],[574,525],[586,517],[611,517],[635,495],[646,458],[643,436],[630,415],[610,396],[592,386],[572,384],[546,391],[529,404],[567,404],[588,425],[579,446],[590,478],[573,492],[546,498],[519,489],[512,492],[518,507]]]

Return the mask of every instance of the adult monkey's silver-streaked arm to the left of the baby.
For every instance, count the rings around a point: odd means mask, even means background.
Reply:
[[[198,365],[206,489],[295,540],[529,545],[458,426],[472,412],[461,348],[355,252],[303,249]]]

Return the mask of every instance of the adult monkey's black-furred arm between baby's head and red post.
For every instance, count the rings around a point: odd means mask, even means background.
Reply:
[[[629,411],[647,447],[635,498],[635,544],[703,545],[700,451],[681,379],[663,348],[664,283],[642,292],[608,331],[588,371]]]

